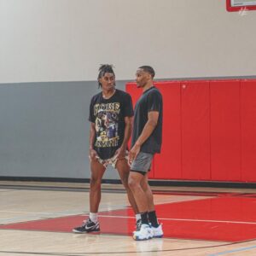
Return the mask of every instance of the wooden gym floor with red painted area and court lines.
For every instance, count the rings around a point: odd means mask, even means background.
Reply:
[[[79,235],[88,184],[0,181],[0,256],[256,255],[256,189],[153,189],[165,238],[133,241],[121,185],[102,184],[101,234]]]

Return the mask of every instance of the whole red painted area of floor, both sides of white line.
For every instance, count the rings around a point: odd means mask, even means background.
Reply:
[[[253,198],[218,197],[183,201],[157,205],[156,211],[163,223],[165,237],[208,241],[256,238],[256,199]],[[100,212],[101,233],[131,236],[135,225],[133,216],[131,208]],[[81,215],[49,218],[2,225],[0,229],[71,232],[84,218]]]

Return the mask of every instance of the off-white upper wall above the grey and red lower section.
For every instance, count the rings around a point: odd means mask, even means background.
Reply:
[[[225,0],[0,0],[0,83],[256,74],[256,11]]]

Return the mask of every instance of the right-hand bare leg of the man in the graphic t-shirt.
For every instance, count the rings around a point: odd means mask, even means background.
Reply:
[[[134,199],[134,196],[132,195],[131,189],[128,186],[130,167],[127,164],[127,160],[125,160],[125,159],[118,160],[116,163],[116,168],[119,172],[119,177],[121,179],[121,182],[123,183],[123,185],[126,189],[128,200],[131,204],[131,207],[132,207],[133,211],[137,214],[138,213],[137,204]]]

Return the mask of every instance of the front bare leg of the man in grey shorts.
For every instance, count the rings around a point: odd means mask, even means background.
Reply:
[[[148,198],[141,183],[145,177],[138,172],[130,172],[128,183],[137,203],[139,212],[148,212]]]

